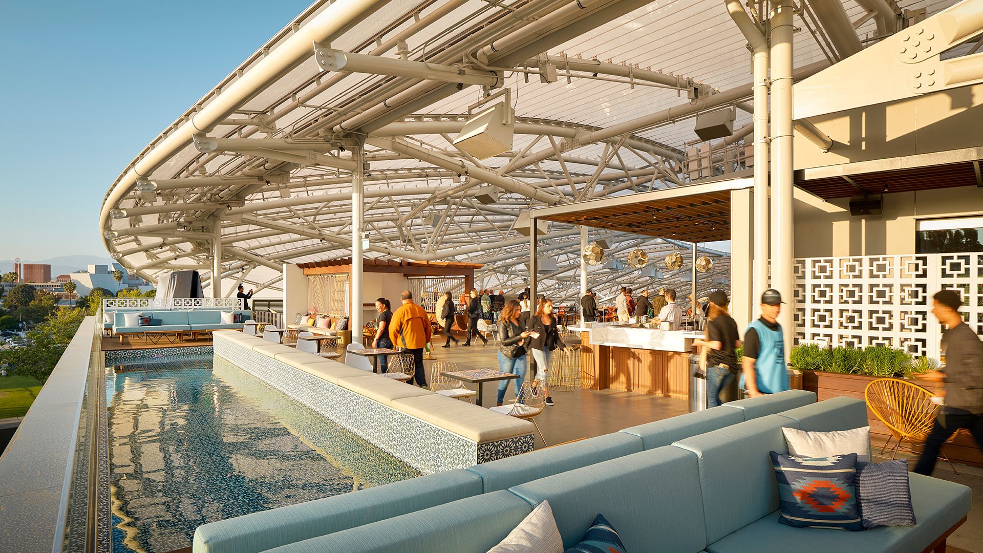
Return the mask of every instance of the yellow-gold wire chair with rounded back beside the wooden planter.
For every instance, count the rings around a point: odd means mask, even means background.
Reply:
[[[903,444],[907,443],[912,446],[925,444],[939,410],[939,405],[932,401],[935,395],[921,386],[904,380],[882,378],[868,384],[867,388],[864,389],[863,396],[871,411],[874,412],[874,416],[880,419],[891,431],[891,436],[881,448],[881,453],[883,454],[891,445],[891,441],[895,440],[891,459],[895,459],[898,450],[917,454],[918,452],[904,447]],[[954,434],[946,443],[951,443],[957,434]],[[949,461],[941,449],[939,450],[939,458],[948,462],[949,466],[953,468],[953,472],[958,474],[955,466],[953,466],[953,461]]]

